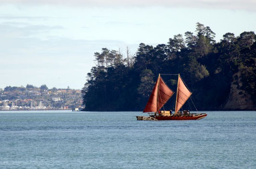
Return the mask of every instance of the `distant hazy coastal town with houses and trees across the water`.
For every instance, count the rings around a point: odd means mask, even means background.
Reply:
[[[8,110],[72,110],[84,109],[81,90],[7,86],[0,89],[0,111]]]

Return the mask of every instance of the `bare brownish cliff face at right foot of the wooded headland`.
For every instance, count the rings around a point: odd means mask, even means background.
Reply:
[[[225,109],[253,109],[254,104],[252,101],[252,96],[242,90],[241,87],[243,85],[241,81],[241,73],[235,73],[232,77],[231,89],[229,94],[229,99],[227,103],[224,105]]]

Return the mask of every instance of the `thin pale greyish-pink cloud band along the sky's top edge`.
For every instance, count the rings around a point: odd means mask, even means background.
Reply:
[[[255,0],[0,0],[0,3],[79,7],[193,7],[256,11]]]

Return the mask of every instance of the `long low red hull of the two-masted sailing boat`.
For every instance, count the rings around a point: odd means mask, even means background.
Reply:
[[[207,116],[206,113],[180,116],[136,116],[137,120],[200,120]]]

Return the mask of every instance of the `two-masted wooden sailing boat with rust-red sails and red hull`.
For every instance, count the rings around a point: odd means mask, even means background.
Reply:
[[[177,93],[175,101],[175,112],[161,111],[160,109],[174,94],[161,78],[158,80],[152,90],[152,93],[146,103],[143,113],[149,113],[149,116],[136,116],[137,120],[199,120],[207,116],[206,113],[190,113],[189,111],[181,112],[183,104],[189,99],[192,92],[184,84],[180,74],[178,74]]]

